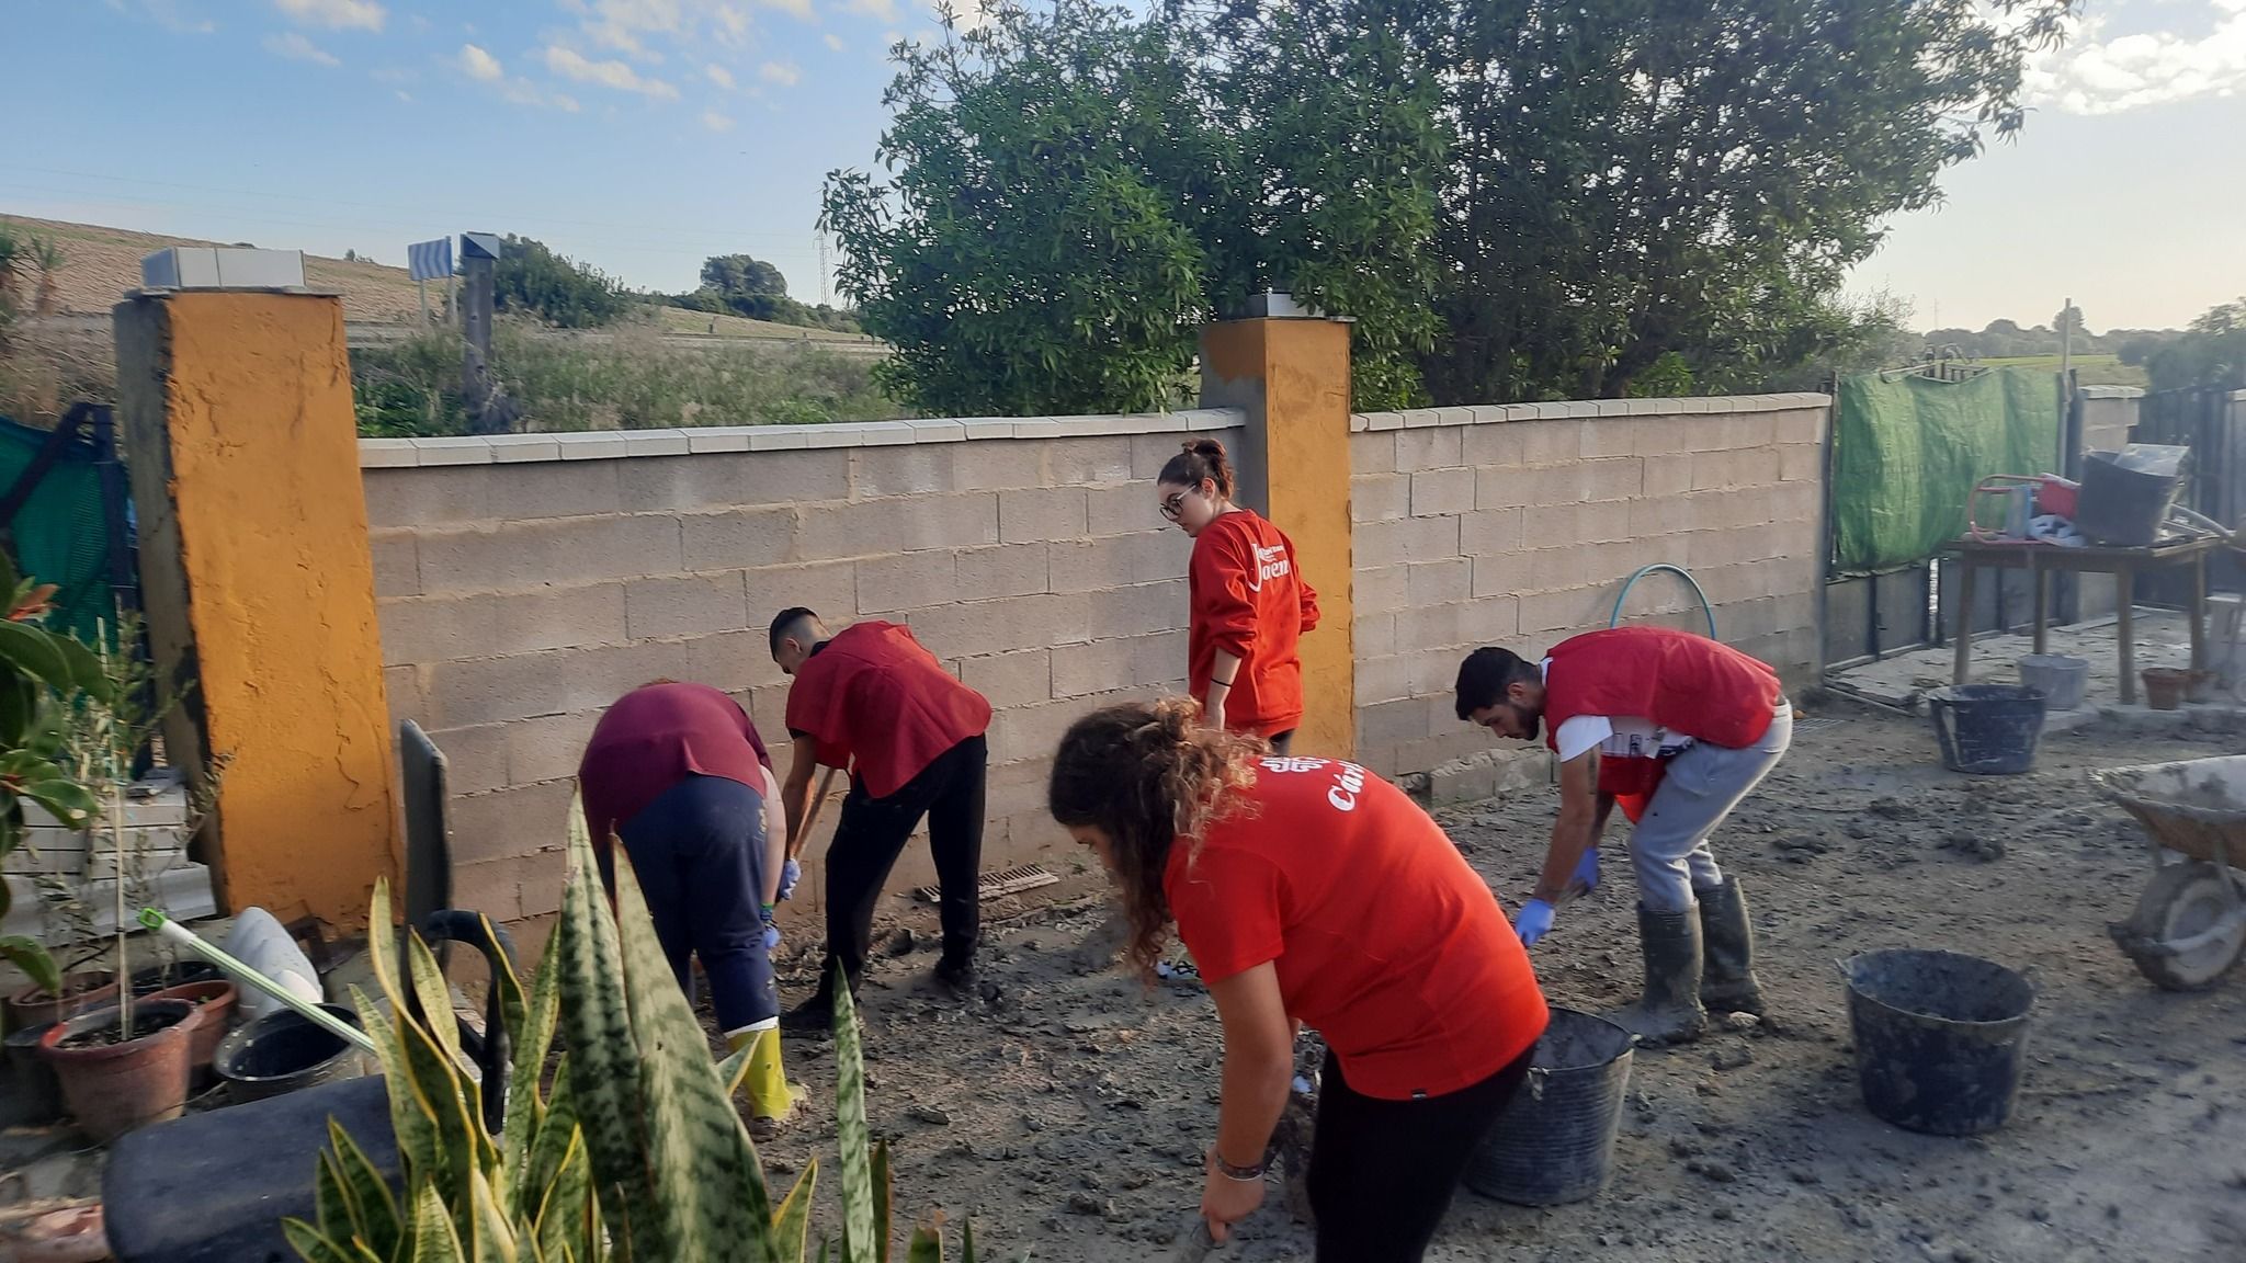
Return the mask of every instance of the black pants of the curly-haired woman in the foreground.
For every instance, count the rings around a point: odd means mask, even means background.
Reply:
[[[1309,1142],[1318,1263],[1417,1263],[1467,1157],[1527,1079],[1532,1052],[1471,1088],[1419,1101],[1352,1092],[1327,1052]]]

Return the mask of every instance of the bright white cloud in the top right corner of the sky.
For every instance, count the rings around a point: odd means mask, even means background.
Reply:
[[[2062,47],[2028,58],[2028,101],[2069,115],[2118,115],[2246,88],[2246,0],[2201,7],[2210,20],[2201,36],[2161,29],[2102,38],[2107,20],[2082,18]]]

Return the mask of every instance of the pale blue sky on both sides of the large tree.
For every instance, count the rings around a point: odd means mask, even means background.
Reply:
[[[746,249],[820,299],[820,180],[928,0],[0,0],[0,211],[402,263],[521,231],[631,285]],[[2246,294],[2246,0],[2091,0],[2012,146],[1855,274],[1916,326]]]

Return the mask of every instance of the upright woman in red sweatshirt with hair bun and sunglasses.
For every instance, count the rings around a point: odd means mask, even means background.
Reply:
[[[1294,564],[1294,539],[1233,503],[1233,463],[1195,438],[1154,479],[1161,515],[1193,537],[1186,571],[1186,681],[1211,728],[1267,737],[1287,753],[1303,721],[1303,632],[1318,593]]]

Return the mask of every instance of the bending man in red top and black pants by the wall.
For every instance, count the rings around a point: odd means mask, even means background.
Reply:
[[[990,703],[952,679],[896,623],[853,623],[829,636],[809,609],[773,618],[773,661],[788,685],[795,757],[779,800],[788,809],[788,863],[802,854],[811,769],[849,769],[842,820],[827,847],[827,964],[820,991],[779,1018],[793,1032],[833,1023],[836,971],[856,996],[874,939],[874,906],[912,829],[928,818],[937,861],[943,957],[937,982],[966,998],[975,989],[982,908],[984,778]]]

